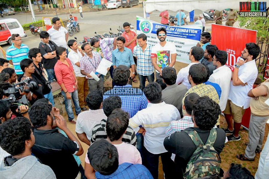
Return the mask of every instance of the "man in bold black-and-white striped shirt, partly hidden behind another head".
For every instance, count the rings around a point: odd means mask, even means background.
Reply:
[[[116,108],[121,108],[121,99],[119,96],[110,96],[103,101],[103,110],[105,115],[108,117],[112,111]],[[106,139],[106,118],[104,118],[100,124],[94,126],[91,135],[91,143],[94,143],[98,139]],[[122,141],[125,143],[132,144],[136,146],[136,136],[135,131],[128,126],[126,133],[122,136]]]

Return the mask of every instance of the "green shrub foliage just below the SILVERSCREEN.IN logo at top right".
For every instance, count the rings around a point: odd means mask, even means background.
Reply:
[[[267,17],[239,17],[239,27],[257,30],[257,37],[269,43],[269,18]]]

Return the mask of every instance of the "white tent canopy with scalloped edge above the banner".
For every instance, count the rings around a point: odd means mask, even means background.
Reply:
[[[268,0],[265,0],[268,1]],[[209,9],[224,10],[224,9],[239,10],[238,0],[146,0],[145,9],[146,12],[152,12],[154,10],[185,10],[191,12],[198,9],[206,11]]]

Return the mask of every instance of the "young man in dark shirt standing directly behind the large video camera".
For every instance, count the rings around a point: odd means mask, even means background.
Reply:
[[[32,101],[31,104],[33,104],[36,100],[44,98],[43,92],[42,92],[42,83],[39,81],[39,79],[36,78],[33,73],[35,72],[35,67],[33,64],[33,60],[29,58],[25,58],[20,62],[20,67],[23,71],[23,74],[18,78],[18,81],[24,80],[23,77],[29,78],[30,81],[36,82],[38,85],[37,89],[30,89],[32,94]]]

